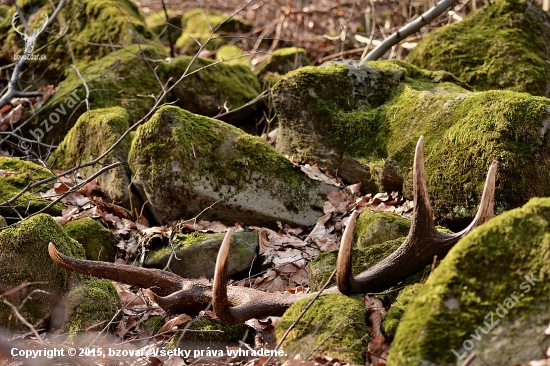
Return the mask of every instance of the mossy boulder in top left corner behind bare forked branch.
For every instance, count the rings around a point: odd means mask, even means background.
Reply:
[[[47,0],[20,0],[18,4],[31,29],[40,27],[44,15],[51,16],[54,10]],[[0,42],[0,64],[13,62],[13,55],[22,54],[25,47],[22,37],[11,26],[15,10],[11,7],[0,23],[0,37],[3,38]],[[36,67],[37,72],[47,68],[48,72],[38,78],[37,85],[43,82],[57,84],[65,68],[73,63],[71,55],[78,60],[77,66],[82,67],[109,54],[112,51],[109,45],[128,47],[153,39],[153,33],[145,25],[145,18],[130,0],[70,1],[57,19],[50,29],[38,37],[34,47],[35,51],[44,47],[36,53],[46,55],[47,61],[27,65]],[[17,24],[22,28],[20,21]],[[59,39],[60,34],[66,37]]]

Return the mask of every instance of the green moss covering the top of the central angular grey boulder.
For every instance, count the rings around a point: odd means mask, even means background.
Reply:
[[[261,138],[171,106],[159,109],[139,127],[129,163],[133,172],[139,172],[140,189],[156,192],[156,200],[165,197],[162,201],[172,202],[171,208],[163,207],[165,217],[175,212],[177,217],[192,214],[174,202],[193,199],[193,187],[204,187],[200,190],[220,195],[228,203],[244,190],[263,190],[270,197],[284,197],[285,207],[299,212],[312,204],[309,195],[317,184],[306,180]],[[179,188],[159,190],[174,179]]]

